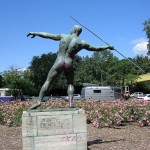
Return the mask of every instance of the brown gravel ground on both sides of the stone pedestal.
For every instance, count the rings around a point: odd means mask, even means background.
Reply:
[[[150,150],[150,127],[97,129],[88,124],[87,130],[88,150]],[[22,150],[21,127],[0,125],[0,150]]]

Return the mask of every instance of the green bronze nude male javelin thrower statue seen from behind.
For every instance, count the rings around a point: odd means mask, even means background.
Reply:
[[[72,107],[72,100],[74,94],[74,72],[73,72],[73,58],[74,56],[82,49],[86,49],[89,51],[103,51],[103,50],[114,50],[112,46],[99,46],[94,47],[91,44],[87,43],[84,40],[79,38],[80,33],[82,32],[82,28],[78,25],[75,25],[70,34],[50,34],[45,32],[29,32],[27,36],[31,36],[34,38],[35,36],[39,36],[46,39],[52,39],[55,41],[60,41],[58,55],[56,61],[52,68],[50,69],[47,79],[43,84],[37,103],[31,107],[31,109],[36,109],[41,105],[41,100],[43,99],[45,92],[48,90],[53,79],[61,72],[64,71],[67,83],[68,83],[68,97],[69,97],[69,105]]]

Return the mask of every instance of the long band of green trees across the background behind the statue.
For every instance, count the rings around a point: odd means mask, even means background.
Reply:
[[[2,74],[3,87],[21,89],[24,95],[38,95],[56,56],[54,53],[34,56],[31,66],[25,71],[10,67]],[[146,73],[150,72],[150,61],[147,56],[136,56],[131,60]],[[103,86],[130,85],[140,74],[143,72],[131,62],[125,59],[119,60],[111,51],[94,52],[91,57],[76,56],[74,58],[75,92],[81,92],[83,83],[95,83]],[[139,87],[142,87],[141,91],[143,92],[149,93],[150,91],[149,86],[145,83],[141,83],[140,86],[138,84],[130,85],[130,89],[133,91]],[[56,77],[48,92],[52,95],[54,95],[53,93],[66,95],[67,81],[64,73]]]

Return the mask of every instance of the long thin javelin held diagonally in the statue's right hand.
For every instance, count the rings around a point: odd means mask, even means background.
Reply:
[[[97,34],[95,34],[93,31],[91,31],[90,29],[88,29],[86,26],[84,26],[83,24],[81,24],[79,21],[77,21],[75,18],[69,16],[72,20],[74,20],[75,22],[77,22],[79,25],[81,25],[83,28],[85,28],[86,30],[88,30],[90,33],[92,33],[93,35],[95,35],[98,39],[100,39],[101,41],[103,41],[106,45],[110,46],[106,41],[104,41],[102,38],[100,38]],[[118,50],[114,49],[117,53],[119,53],[121,56],[123,56],[125,59],[127,59],[128,61],[130,61],[132,64],[134,64],[136,67],[138,67],[143,73],[145,73],[145,71],[140,68],[137,64],[135,64],[133,61],[131,61],[130,59],[128,59],[127,57],[125,57],[123,54],[121,54]]]

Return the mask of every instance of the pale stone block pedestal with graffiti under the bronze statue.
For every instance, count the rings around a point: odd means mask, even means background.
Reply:
[[[76,108],[24,111],[23,150],[87,150],[86,116]]]

